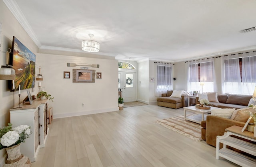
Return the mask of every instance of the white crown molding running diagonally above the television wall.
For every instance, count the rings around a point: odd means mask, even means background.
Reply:
[[[41,46],[40,41],[37,39],[36,34],[34,33],[31,26],[28,24],[28,20],[25,18],[24,14],[21,12],[18,4],[15,0],[3,0],[9,10],[12,12],[14,17],[18,20],[20,25],[24,28],[24,30],[28,33],[31,39],[36,43],[38,47]]]

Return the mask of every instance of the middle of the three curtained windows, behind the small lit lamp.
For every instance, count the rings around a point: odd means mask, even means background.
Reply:
[[[190,61],[188,65],[188,91],[213,92],[215,88],[214,58]],[[204,83],[203,90],[200,83]]]

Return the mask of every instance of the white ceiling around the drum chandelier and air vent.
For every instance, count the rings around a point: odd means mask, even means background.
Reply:
[[[3,0],[41,49],[184,61],[256,49],[256,0]]]

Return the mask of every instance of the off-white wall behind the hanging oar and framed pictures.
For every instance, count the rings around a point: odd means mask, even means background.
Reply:
[[[89,69],[102,73],[102,79],[95,77],[95,83],[73,83],[72,69],[80,67],[67,67],[67,63],[99,64],[100,68]],[[42,67],[42,86],[54,96],[54,102],[49,104],[53,107],[54,118],[118,110],[118,82],[115,82],[118,81],[117,60],[38,53],[36,64]],[[70,79],[64,79],[64,71],[70,71]]]

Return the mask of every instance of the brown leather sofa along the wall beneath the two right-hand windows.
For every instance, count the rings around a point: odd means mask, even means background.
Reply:
[[[210,102],[209,106],[214,106],[218,108],[245,108],[248,106],[252,95],[244,94],[218,94],[219,102]],[[196,102],[198,103],[198,97],[196,97]]]

